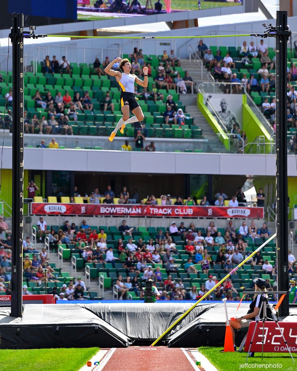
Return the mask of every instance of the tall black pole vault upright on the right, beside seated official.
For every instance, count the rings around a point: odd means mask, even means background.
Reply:
[[[288,291],[288,191],[287,191],[287,12],[276,18],[276,233],[277,289]],[[278,309],[279,316],[289,315],[289,296]]]

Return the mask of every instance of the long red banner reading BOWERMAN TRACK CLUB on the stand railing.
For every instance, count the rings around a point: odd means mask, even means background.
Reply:
[[[159,206],[114,204],[31,203],[31,213],[40,215],[172,216],[263,219],[263,207]]]

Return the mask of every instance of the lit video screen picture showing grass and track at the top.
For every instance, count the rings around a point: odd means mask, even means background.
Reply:
[[[77,19],[116,19],[241,5],[242,0],[77,0]]]

